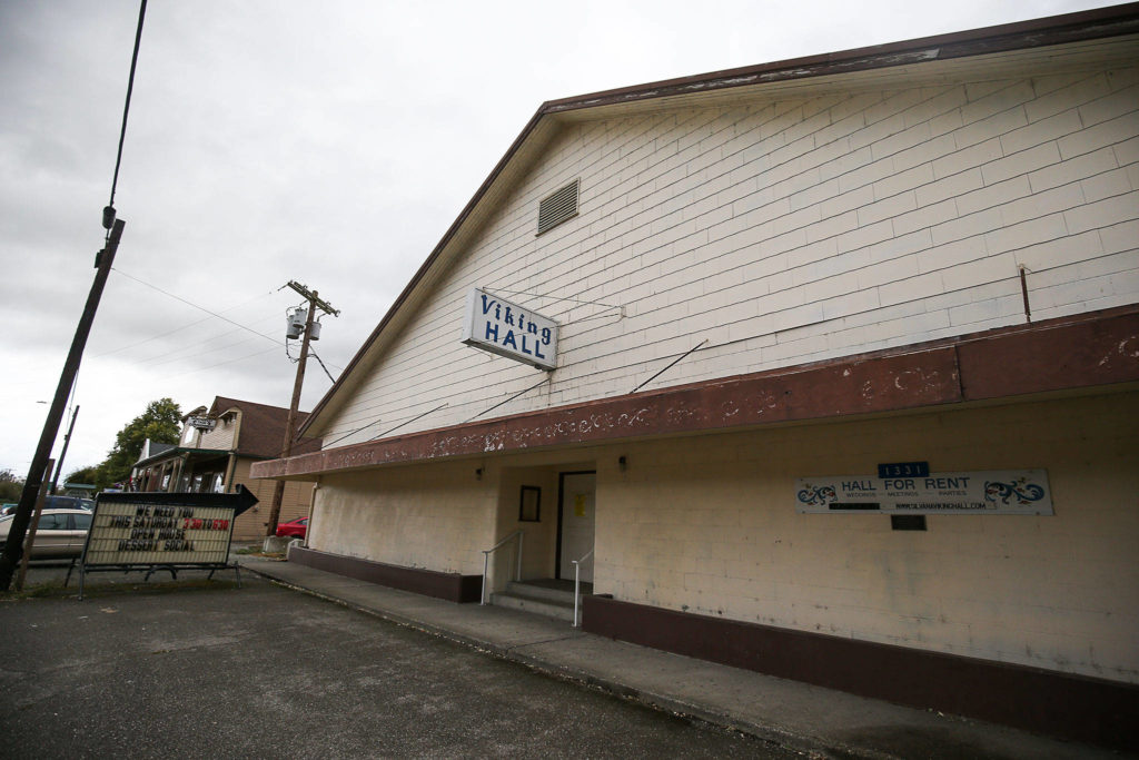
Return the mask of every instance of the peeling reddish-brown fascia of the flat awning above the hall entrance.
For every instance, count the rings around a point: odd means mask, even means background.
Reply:
[[[327,449],[259,463],[251,474],[305,479],[1134,382],[1139,304]]]

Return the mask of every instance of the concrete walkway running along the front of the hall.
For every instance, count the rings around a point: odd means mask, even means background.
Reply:
[[[295,563],[238,558],[260,575],[384,620],[811,757],[1121,757],[583,634],[560,620],[453,604]]]

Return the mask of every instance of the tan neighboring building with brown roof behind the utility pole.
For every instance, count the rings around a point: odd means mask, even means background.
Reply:
[[[304,422],[306,414],[298,414]],[[273,483],[249,477],[249,466],[280,456],[288,409],[252,401],[218,397],[208,408],[198,407],[182,417],[182,433],[177,444],[147,440],[134,464],[131,487],[138,491],[183,491],[230,493],[245,485],[259,504],[237,517],[233,540],[264,537]],[[320,441],[305,439],[294,451],[318,451]],[[279,522],[309,514],[311,483],[288,483],[281,501]]]

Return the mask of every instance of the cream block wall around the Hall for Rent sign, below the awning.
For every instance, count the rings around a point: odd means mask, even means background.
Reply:
[[[1133,393],[624,446],[599,457],[598,593],[1139,683]],[[936,431],[932,434],[932,431]],[[977,442],[983,440],[984,447]],[[1054,516],[801,515],[797,476],[1046,466]]]

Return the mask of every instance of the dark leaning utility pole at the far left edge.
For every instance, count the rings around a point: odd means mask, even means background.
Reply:
[[[103,288],[107,284],[110,275],[110,265],[115,262],[115,252],[118,251],[118,240],[123,236],[123,227],[126,222],[115,219],[115,211],[110,206],[104,210],[104,226],[110,230],[107,237],[107,245],[96,255],[95,281],[91,284],[91,292],[87,296],[87,305],[83,307],[83,316],[80,317],[79,326],[75,328],[75,337],[72,338],[72,348],[67,353],[67,361],[64,362],[64,370],[59,375],[59,384],[56,385],[56,397],[51,401],[48,410],[48,418],[43,422],[43,432],[40,433],[40,444],[35,449],[32,458],[32,466],[27,471],[27,480],[24,481],[24,491],[19,497],[19,506],[11,518],[11,529],[8,531],[8,541],[5,545],[3,554],[0,554],[0,591],[7,591],[11,586],[11,577],[16,572],[19,558],[24,554],[24,538],[27,534],[27,524],[32,518],[32,509],[35,507],[35,499],[43,484],[44,474],[48,472],[48,459],[51,457],[51,447],[59,434],[59,424],[64,418],[64,407],[67,406],[67,397],[71,395],[72,385],[75,384],[75,375],[79,374],[79,365],[83,359],[83,349],[87,348],[88,335],[91,334],[91,324],[95,321],[95,312],[99,309],[99,300],[103,297]]]

